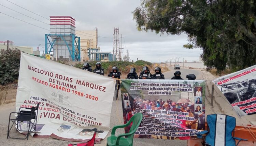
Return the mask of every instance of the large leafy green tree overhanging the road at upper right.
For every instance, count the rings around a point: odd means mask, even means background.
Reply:
[[[216,69],[221,75],[227,66],[239,71],[256,64],[253,0],[142,0],[133,19],[139,31],[187,34],[189,43],[183,47],[202,49],[207,71]]]

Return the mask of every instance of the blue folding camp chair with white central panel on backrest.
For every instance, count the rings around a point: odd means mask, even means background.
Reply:
[[[210,114],[207,115],[208,131],[197,132],[197,138],[205,137],[205,145],[207,146],[237,146],[240,141],[247,141],[232,136],[234,135],[234,128],[236,127],[236,118],[224,114]],[[239,140],[236,144],[236,140]]]

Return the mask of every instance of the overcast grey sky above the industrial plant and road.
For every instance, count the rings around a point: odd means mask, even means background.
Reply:
[[[136,21],[132,20],[132,11],[140,5],[139,0],[0,0],[0,12],[40,26],[49,30],[49,20],[24,10],[39,14],[47,19],[49,16],[71,16],[76,20],[76,30],[94,30],[98,28],[98,36],[113,38],[114,28],[119,28],[119,35],[125,38],[122,41],[124,51],[129,50],[133,60],[143,59],[151,62],[165,62],[167,59],[181,57],[188,61],[198,60],[202,50],[185,49],[187,35],[157,35],[155,32],[139,32]],[[28,18],[13,10],[28,15]],[[41,44],[44,46],[44,34],[49,31],[11,18],[0,13],[0,41],[12,40],[18,46],[31,46],[35,50]],[[79,36],[79,35],[77,35]],[[99,46],[103,52],[113,53],[113,39],[100,38]],[[125,43],[124,43],[125,41]]]

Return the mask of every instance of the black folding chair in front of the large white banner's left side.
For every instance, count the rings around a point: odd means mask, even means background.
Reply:
[[[29,133],[34,132],[35,128],[37,126],[37,114],[38,114],[38,108],[39,104],[37,107],[32,107],[32,108],[19,108],[19,112],[11,112],[9,115],[9,124],[8,124],[8,133],[7,133],[7,139],[12,138],[12,139],[28,139]],[[20,110],[20,109],[25,109],[25,110]],[[37,111],[37,112],[35,112]],[[16,113],[17,117],[15,119],[11,119],[11,114]],[[34,122],[32,122],[33,120]],[[10,128],[10,121],[13,122],[11,128]],[[28,128],[26,127],[25,129],[22,129],[20,123],[26,122],[28,124]],[[13,125],[16,125],[16,131],[25,131],[28,132],[26,138],[13,138],[10,136],[10,131],[13,127]],[[33,130],[32,130],[33,128]]]

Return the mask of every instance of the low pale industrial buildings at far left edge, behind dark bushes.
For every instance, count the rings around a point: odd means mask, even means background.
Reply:
[[[9,49],[19,49],[21,52],[25,52],[27,54],[33,54],[33,47],[25,47],[25,46],[17,46],[14,45],[13,41],[9,41],[8,43]],[[0,49],[7,50],[7,40],[0,41]]]

